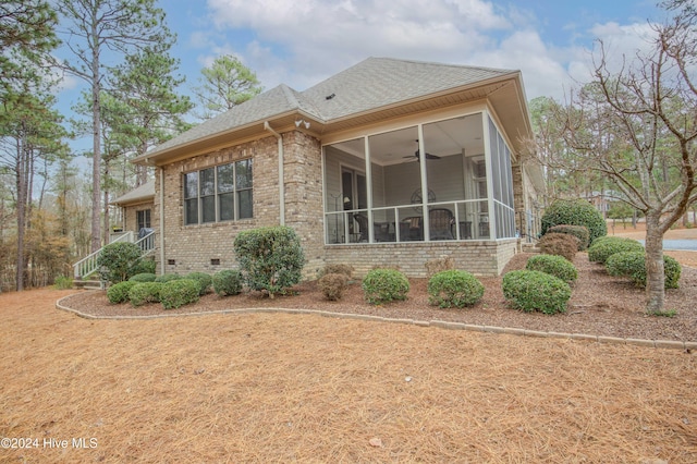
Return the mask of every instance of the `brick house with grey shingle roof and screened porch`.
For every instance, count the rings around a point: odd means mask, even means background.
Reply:
[[[539,168],[521,161],[530,135],[519,71],[369,58],[304,91],[272,88],[135,162],[156,168],[160,272],[234,268],[240,231],[285,224],[307,277],[330,262],[423,277],[442,255],[498,274],[542,194]]]

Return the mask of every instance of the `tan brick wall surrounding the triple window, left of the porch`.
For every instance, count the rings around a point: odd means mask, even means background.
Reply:
[[[302,237],[310,272],[323,259],[320,145],[301,132],[290,132],[283,134],[283,150],[286,225]],[[246,158],[254,160],[254,218],[184,225],[183,174]],[[236,268],[233,243],[237,233],[280,223],[278,166],[278,142],[271,135],[166,166],[164,271],[212,273]],[[152,222],[159,229],[159,182],[155,198]],[[219,264],[211,264],[211,259]]]

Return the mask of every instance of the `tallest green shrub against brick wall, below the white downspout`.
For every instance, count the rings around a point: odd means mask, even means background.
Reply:
[[[279,225],[241,232],[234,248],[250,290],[266,291],[273,297],[302,279],[305,254],[291,228]]]

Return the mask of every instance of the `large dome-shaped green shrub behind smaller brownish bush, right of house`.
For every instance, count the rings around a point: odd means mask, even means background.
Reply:
[[[584,225],[588,229],[590,244],[608,234],[608,224],[590,203],[585,199],[558,199],[542,215],[542,235],[554,225]]]

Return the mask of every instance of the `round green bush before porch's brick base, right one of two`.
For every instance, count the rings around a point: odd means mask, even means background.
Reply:
[[[428,281],[428,303],[441,308],[472,306],[482,296],[484,285],[467,271],[444,270]]]

